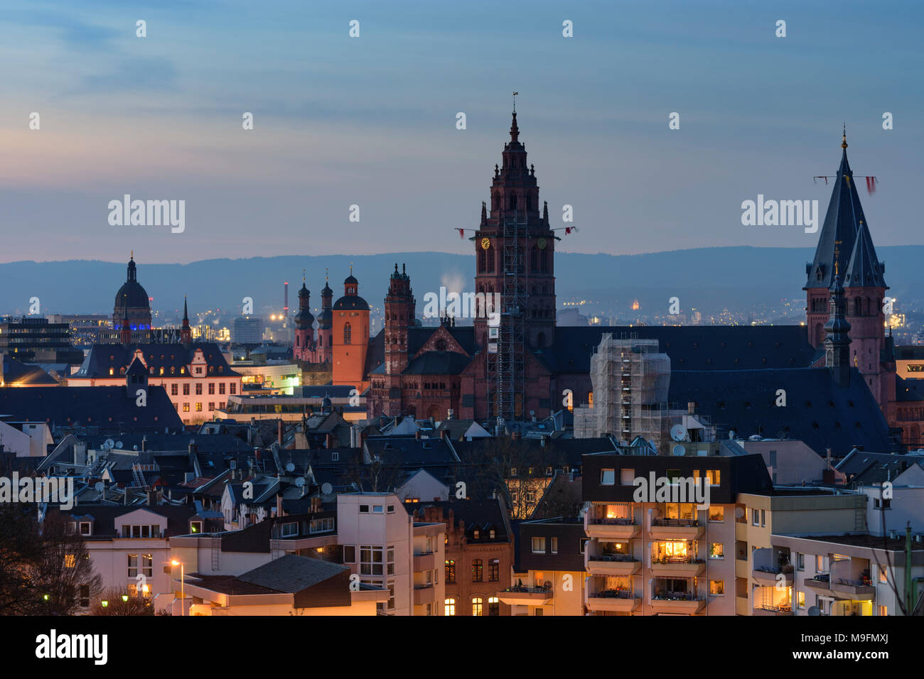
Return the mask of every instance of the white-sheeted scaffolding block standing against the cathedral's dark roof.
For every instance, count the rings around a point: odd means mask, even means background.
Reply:
[[[667,389],[671,382],[671,359],[659,351],[658,340],[625,334],[614,339],[603,335],[590,357],[593,401],[575,411],[575,437],[604,433],[631,442],[641,436],[659,452],[669,440],[670,417]]]

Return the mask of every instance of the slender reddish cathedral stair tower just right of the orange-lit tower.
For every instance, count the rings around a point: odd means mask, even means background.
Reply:
[[[385,379],[382,413],[390,417],[401,415],[401,373],[407,368],[407,330],[415,322],[414,293],[410,276],[402,266],[388,282],[385,296]]]

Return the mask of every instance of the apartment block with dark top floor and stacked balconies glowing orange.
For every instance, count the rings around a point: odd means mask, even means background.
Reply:
[[[736,613],[736,498],[772,489],[762,457],[743,453],[687,442],[671,456],[584,456],[588,612]]]

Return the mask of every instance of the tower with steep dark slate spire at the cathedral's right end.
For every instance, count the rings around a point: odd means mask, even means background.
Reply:
[[[816,348],[824,343],[828,332],[825,322],[830,317],[829,290],[833,278],[843,273],[850,365],[863,375],[882,413],[889,418],[889,404],[895,398],[895,372],[892,343],[885,336],[883,304],[889,289],[884,278],[885,263],[876,256],[857,182],[847,162],[846,132],[841,149],[841,165],[834,177],[815,258],[806,264],[808,279],[803,289],[808,341]]]

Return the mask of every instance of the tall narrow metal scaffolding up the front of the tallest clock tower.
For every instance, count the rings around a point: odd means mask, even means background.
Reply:
[[[492,356],[488,345],[488,407],[491,415],[505,422],[523,418],[526,394],[526,309],[528,273],[526,241],[529,221],[502,218],[503,289],[497,338]],[[489,324],[490,325],[490,324]],[[489,328],[489,333],[492,331]]]

